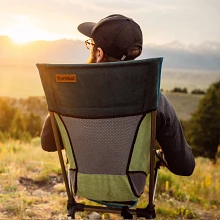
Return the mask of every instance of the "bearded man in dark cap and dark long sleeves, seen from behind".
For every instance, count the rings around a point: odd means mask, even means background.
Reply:
[[[97,24],[82,23],[78,30],[90,38],[85,41],[90,50],[89,63],[133,60],[141,54],[142,31],[131,18],[110,15]],[[156,137],[170,171],[177,175],[191,175],[195,167],[192,151],[174,109],[162,93],[157,109]],[[41,144],[46,151],[56,151],[49,117],[42,130]]]

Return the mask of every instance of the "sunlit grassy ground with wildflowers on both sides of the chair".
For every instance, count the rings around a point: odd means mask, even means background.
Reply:
[[[220,163],[197,158],[191,177],[161,168],[155,198],[156,219],[220,219]],[[146,192],[139,207],[147,204]],[[67,219],[66,193],[57,153],[40,140],[0,143],[0,219]],[[79,213],[79,218],[86,214]],[[118,216],[103,215],[103,219]]]

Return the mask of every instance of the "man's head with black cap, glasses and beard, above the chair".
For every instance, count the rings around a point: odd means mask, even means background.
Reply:
[[[141,54],[142,31],[131,18],[114,14],[98,23],[82,23],[78,30],[91,38],[86,41],[89,62],[133,60]]]

